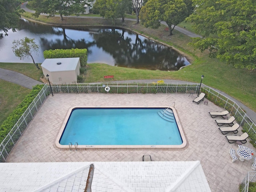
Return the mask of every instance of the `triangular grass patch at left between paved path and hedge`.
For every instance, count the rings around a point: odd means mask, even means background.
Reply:
[[[31,90],[0,80],[0,125]]]

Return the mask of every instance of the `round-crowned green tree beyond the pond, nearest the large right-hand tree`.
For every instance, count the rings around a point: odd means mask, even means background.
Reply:
[[[145,27],[158,28],[165,21],[172,35],[174,27],[188,16],[188,9],[183,0],[149,0],[140,15]]]

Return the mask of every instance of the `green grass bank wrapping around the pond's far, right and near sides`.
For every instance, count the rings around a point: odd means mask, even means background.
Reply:
[[[31,18],[30,13],[25,13],[24,16]],[[66,25],[66,26],[102,26],[112,25],[110,20],[97,18],[65,18],[60,21],[59,17],[46,18],[40,16],[40,22],[48,24]],[[189,58],[192,65],[187,66],[179,71],[164,72],[151,70],[137,70],[128,68],[119,68],[108,66],[106,64],[88,64],[86,73],[86,82],[104,81],[104,75],[114,75],[114,80],[135,80],[135,79],[176,79],[190,82],[200,82],[200,77],[204,74],[203,83],[222,90],[230,96],[244,103],[246,106],[256,111],[256,71],[248,71],[245,69],[234,68],[231,65],[225,64],[218,59],[208,57],[207,52],[201,53],[188,46],[190,37],[174,30],[174,35],[168,36],[168,32],[164,29],[166,26],[161,26],[158,29],[144,28],[135,21],[126,20],[121,23],[119,20],[116,26],[130,28],[143,35],[152,37],[156,40],[164,42],[170,46],[174,46],[182,51]],[[188,27],[186,27],[187,29]],[[35,69],[36,70],[36,69]]]

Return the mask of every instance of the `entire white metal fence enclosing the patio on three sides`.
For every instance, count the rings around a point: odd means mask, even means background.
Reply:
[[[110,87],[109,92],[105,91],[105,87]],[[51,84],[53,93],[102,93],[102,94],[129,94],[129,93],[165,93],[165,94],[197,94],[199,84],[197,83],[69,83],[69,84]],[[234,101],[226,96],[213,90],[212,88],[202,84],[201,91],[206,94],[206,98],[216,105],[228,110],[236,121],[240,124],[245,132],[249,134],[251,141],[256,144],[256,125],[246,115],[246,113]],[[20,138],[28,124],[35,116],[36,112],[46,99],[50,87],[47,84],[36,96],[35,100],[30,104],[22,117],[12,128],[8,136],[0,144],[0,162],[6,162],[6,159]]]

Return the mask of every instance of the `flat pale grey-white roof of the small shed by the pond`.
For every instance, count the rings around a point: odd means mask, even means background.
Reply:
[[[78,61],[79,57],[45,59],[44,62],[41,64],[41,67],[45,68],[50,72],[74,71],[76,70]],[[61,62],[61,64],[57,64],[57,62]]]

